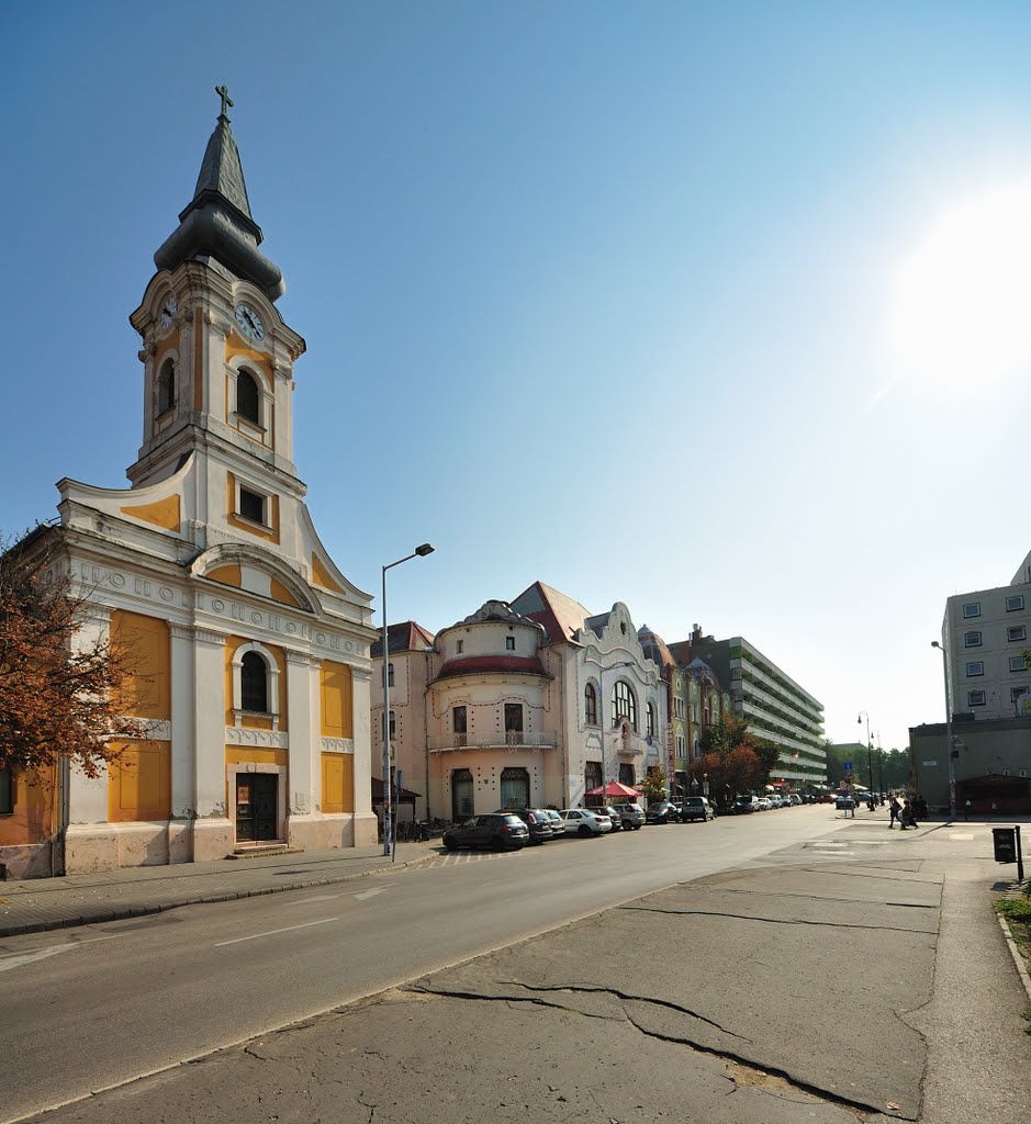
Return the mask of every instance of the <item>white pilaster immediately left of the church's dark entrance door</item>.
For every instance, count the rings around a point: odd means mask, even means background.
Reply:
[[[225,636],[193,631],[193,858],[220,859],[233,849],[226,816]]]

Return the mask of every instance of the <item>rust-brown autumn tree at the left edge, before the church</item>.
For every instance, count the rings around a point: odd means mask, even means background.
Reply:
[[[118,713],[124,654],[83,634],[88,598],[60,561],[61,528],[0,544],[0,769],[49,773],[60,760],[97,777],[144,735]]]

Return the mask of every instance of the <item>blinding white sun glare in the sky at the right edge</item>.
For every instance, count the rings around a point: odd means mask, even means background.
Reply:
[[[1031,364],[1031,185],[941,216],[899,268],[892,337],[899,373],[939,387]]]

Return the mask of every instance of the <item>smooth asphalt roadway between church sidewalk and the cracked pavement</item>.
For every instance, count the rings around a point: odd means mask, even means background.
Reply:
[[[0,942],[0,1124],[848,821],[826,807],[442,854],[360,883]]]

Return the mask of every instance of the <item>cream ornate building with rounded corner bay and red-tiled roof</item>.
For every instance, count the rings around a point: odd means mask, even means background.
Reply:
[[[410,642],[409,626],[395,631],[392,697],[406,703],[404,714],[391,703],[391,745],[400,746],[405,787],[428,815],[575,807],[603,778],[632,786],[649,765],[664,768],[664,691],[626,606],[590,617],[537,582],[512,604],[487,601],[438,632],[432,653]],[[412,686],[427,660],[419,710]],[[376,728],[381,715],[373,703]]]

